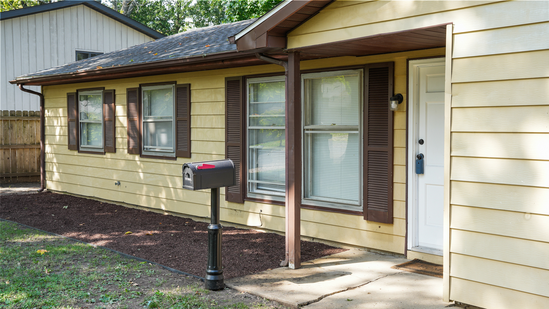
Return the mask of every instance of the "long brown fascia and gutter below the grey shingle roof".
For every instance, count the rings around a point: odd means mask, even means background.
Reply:
[[[220,66],[220,69],[222,69],[223,66],[233,68],[236,64],[245,65],[256,61],[257,58],[254,54],[231,51],[211,54],[205,57],[198,56],[135,65],[115,66],[114,68],[92,69],[88,71],[71,72],[66,74],[29,77],[20,80],[13,80],[10,81],[10,83],[27,86],[52,86],[68,83],[115,80],[128,77],[173,74],[177,71],[177,69],[181,69],[183,72],[200,71],[201,66],[203,67],[208,65],[217,65]],[[193,68],[195,70],[193,70]]]

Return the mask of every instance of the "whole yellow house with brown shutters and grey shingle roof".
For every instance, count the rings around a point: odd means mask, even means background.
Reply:
[[[221,218],[444,265],[444,301],[549,301],[546,1],[284,1],[17,77],[43,187],[204,220],[185,162],[232,159]],[[24,89],[24,88],[23,88]],[[281,253],[282,254],[282,253]]]

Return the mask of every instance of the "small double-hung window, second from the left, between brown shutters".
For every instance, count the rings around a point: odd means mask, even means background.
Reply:
[[[175,85],[142,88],[143,154],[175,156]]]

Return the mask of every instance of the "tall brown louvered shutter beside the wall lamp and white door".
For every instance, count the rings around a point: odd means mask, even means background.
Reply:
[[[393,223],[394,63],[367,64],[364,104],[363,212],[368,221]]]

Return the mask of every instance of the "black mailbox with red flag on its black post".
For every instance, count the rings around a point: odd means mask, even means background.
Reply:
[[[211,189],[211,221],[208,225],[208,268],[204,283],[208,290],[221,290],[223,263],[221,260],[221,232],[219,216],[219,188],[234,186],[236,172],[232,160],[205,161],[183,164],[183,189]]]

